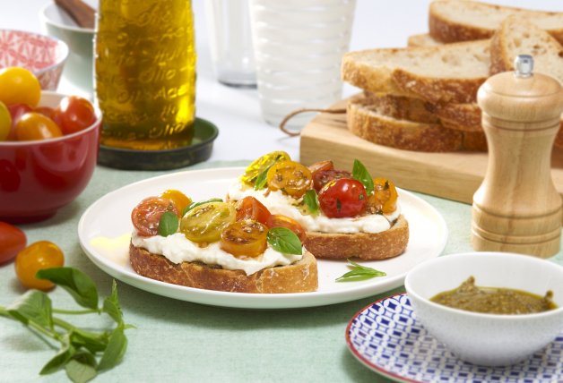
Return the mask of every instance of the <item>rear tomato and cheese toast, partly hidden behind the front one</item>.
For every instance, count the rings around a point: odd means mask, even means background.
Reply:
[[[256,159],[230,186],[229,200],[259,200],[306,232],[316,258],[383,260],[402,254],[409,225],[393,181],[372,178],[358,160],[352,171],[332,161],[304,166],[282,151]]]

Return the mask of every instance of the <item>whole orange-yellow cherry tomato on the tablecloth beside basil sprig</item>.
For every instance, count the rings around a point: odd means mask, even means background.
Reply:
[[[15,257],[15,274],[27,288],[49,290],[53,288],[53,283],[38,279],[35,275],[40,269],[59,268],[64,264],[63,251],[55,243],[39,241],[18,252]]]

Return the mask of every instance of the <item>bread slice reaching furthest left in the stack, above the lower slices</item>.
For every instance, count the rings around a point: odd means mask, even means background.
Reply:
[[[342,79],[360,89],[432,103],[474,102],[489,76],[489,42],[385,48],[342,58]]]

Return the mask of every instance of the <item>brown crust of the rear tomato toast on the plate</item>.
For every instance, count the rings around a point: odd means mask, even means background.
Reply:
[[[319,259],[385,260],[403,254],[408,242],[409,224],[401,215],[390,229],[377,234],[307,232],[305,247]]]

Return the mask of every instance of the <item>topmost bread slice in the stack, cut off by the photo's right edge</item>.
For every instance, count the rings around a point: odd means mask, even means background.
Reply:
[[[436,0],[429,7],[429,34],[444,43],[490,38],[510,15],[530,19],[563,43],[563,13],[533,11],[466,0]]]

